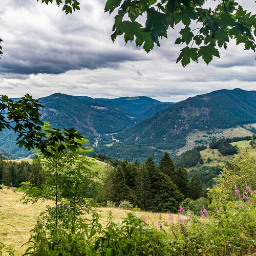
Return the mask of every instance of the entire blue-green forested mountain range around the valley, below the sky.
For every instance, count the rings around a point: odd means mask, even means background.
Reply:
[[[39,101],[45,106],[43,121],[57,128],[74,127],[96,152],[129,160],[143,161],[148,155],[159,159],[164,151],[174,155],[192,133],[216,134],[256,123],[256,91],[241,89],[214,91],[175,104],[145,96],[93,99],[60,93]],[[253,125],[246,130],[255,132]],[[0,147],[15,157],[28,155],[14,150],[14,138],[8,131],[0,134]]]

